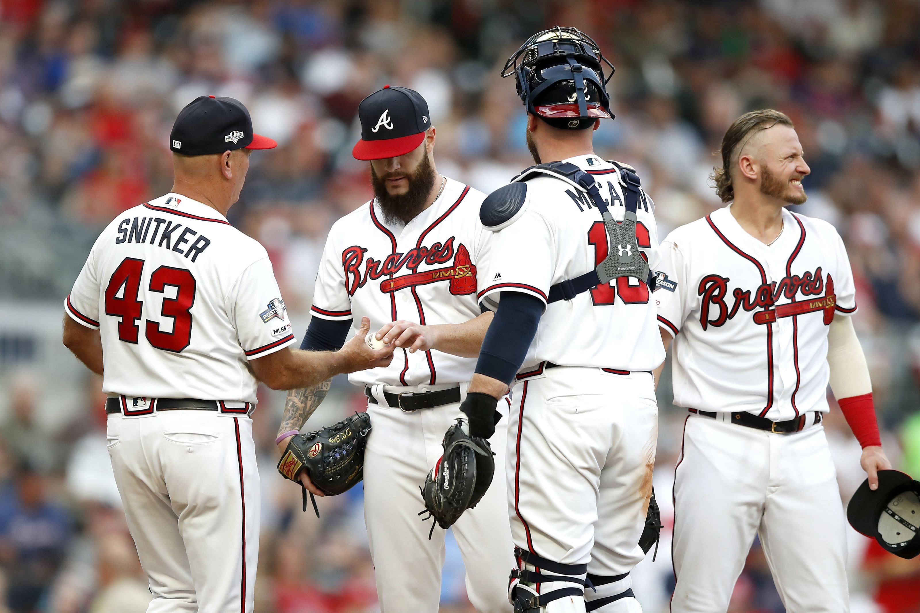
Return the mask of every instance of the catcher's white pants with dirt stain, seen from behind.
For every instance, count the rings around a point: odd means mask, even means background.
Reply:
[[[651,374],[546,369],[515,385],[511,417],[508,494],[514,544],[550,561],[587,563],[594,577],[629,573],[645,555],[638,539],[658,438]],[[549,582],[539,589],[571,586]],[[555,600],[546,613],[581,612],[586,603],[587,610],[599,613],[640,613],[635,597],[592,606],[630,586],[627,575],[596,591],[586,587],[583,598]]]

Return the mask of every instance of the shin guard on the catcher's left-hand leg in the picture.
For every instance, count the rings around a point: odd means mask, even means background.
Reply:
[[[514,613],[541,613],[559,598],[584,596],[587,564],[553,562],[520,547],[514,548],[514,558],[518,567],[512,570],[508,584]]]

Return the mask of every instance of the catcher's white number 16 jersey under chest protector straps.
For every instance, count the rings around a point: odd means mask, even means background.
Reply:
[[[624,190],[614,165],[595,155],[571,157],[598,183],[617,221],[626,215]],[[607,256],[608,237],[591,198],[551,177],[527,181],[522,216],[495,233],[487,284],[479,300],[498,307],[501,291],[522,291],[546,302],[549,288],[590,272]],[[654,270],[658,235],[654,203],[642,192],[636,238]],[[547,305],[522,372],[548,360],[562,366],[651,370],[664,360],[650,290],[637,278],[617,278],[570,301]]]

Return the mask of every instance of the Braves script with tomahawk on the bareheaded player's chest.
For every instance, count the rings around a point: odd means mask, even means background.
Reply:
[[[772,324],[779,317],[792,317],[807,312],[824,312],[825,325],[831,324],[834,319],[836,296],[834,294],[834,279],[827,275],[826,283],[822,277],[821,267],[814,273],[806,272],[803,276],[793,275],[784,277],[778,283],[761,284],[751,292],[750,289],[735,288],[731,290],[731,307],[726,299],[729,295],[729,278],[720,275],[707,275],[699,282],[699,295],[702,297],[700,304],[699,323],[706,330],[708,326],[724,325],[734,318],[739,310],[753,313],[754,324]],[[817,299],[795,301],[796,294],[802,297],[820,296]],[[776,304],[781,297],[786,297],[791,302]]]

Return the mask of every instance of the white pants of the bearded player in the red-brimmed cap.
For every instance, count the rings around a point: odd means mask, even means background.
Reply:
[[[374,386],[374,397],[384,404],[367,407],[374,429],[364,452],[364,519],[377,596],[382,613],[436,613],[445,531],[435,526],[428,538],[434,520],[422,521],[419,516],[425,508],[420,488],[442,456],[444,433],[462,415],[460,404],[407,413],[385,405],[382,387]],[[461,389],[466,392],[466,384]],[[513,553],[502,473],[508,403],[501,400],[498,408],[503,416],[489,439],[496,454],[495,477],[479,504],[452,527],[466,566],[466,593],[480,613],[512,610],[507,590]]]

